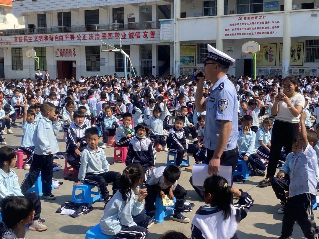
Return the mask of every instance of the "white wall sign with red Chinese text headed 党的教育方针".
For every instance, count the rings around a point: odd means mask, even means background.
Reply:
[[[265,38],[283,36],[284,15],[279,13],[262,13],[225,17],[222,21],[222,38]]]

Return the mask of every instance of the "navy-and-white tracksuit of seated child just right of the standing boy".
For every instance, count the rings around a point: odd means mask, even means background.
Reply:
[[[87,128],[89,127],[85,123],[79,126],[73,121],[66,133],[65,153],[67,153],[68,163],[76,170],[79,170],[80,168],[80,156],[77,155],[74,151],[78,149],[80,150],[80,152],[82,152],[83,149],[85,149],[85,147],[87,146],[84,137],[85,130]],[[79,147],[77,143],[80,143]]]

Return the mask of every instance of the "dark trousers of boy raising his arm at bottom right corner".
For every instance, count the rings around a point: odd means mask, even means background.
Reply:
[[[288,198],[282,218],[282,237],[292,235],[293,225],[297,221],[306,238],[317,238],[318,228],[312,212],[312,201],[315,197],[310,193],[302,193]]]

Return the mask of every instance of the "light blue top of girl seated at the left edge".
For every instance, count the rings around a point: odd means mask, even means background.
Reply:
[[[9,169],[9,175],[7,175],[0,169],[0,201],[7,196],[23,196],[23,194],[16,173]]]

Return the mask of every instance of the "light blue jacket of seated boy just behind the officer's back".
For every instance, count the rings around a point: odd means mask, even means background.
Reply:
[[[256,140],[256,134],[254,131],[249,129],[249,132],[246,134],[243,134],[243,130],[239,131],[238,134],[238,152],[239,155],[245,154],[246,156],[250,156],[252,154],[256,154],[256,148],[255,148],[255,140]]]

